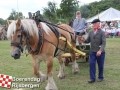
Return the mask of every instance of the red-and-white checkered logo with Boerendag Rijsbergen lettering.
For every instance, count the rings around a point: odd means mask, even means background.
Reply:
[[[0,87],[3,88],[39,88],[40,78],[16,78],[9,75],[0,74]],[[21,89],[20,89],[21,90]]]

